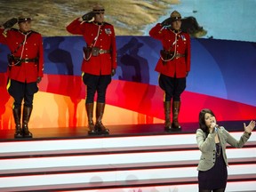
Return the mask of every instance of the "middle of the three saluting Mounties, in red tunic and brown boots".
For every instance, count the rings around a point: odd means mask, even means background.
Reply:
[[[84,60],[81,70],[86,85],[85,108],[88,118],[88,134],[108,134],[102,124],[106,104],[106,92],[111,76],[116,74],[116,35],[114,27],[104,22],[105,9],[95,4],[92,12],[73,20],[68,26],[69,33],[84,36]],[[97,92],[96,123],[93,122],[94,96]]]

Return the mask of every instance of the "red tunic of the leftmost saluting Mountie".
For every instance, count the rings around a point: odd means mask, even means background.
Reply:
[[[24,41],[26,41],[14,56],[21,59],[35,59],[38,57],[38,63],[35,62],[21,62],[20,66],[12,66],[9,68],[8,76],[12,80],[16,80],[22,83],[36,82],[37,77],[44,76],[44,47],[43,38],[39,33],[30,31],[27,34],[23,34],[17,29],[11,29],[7,31],[7,36],[3,35],[4,29],[0,28],[0,43],[6,44],[11,52],[14,52],[17,47]],[[29,36],[28,34],[31,33]],[[22,52],[23,51],[23,52]]]

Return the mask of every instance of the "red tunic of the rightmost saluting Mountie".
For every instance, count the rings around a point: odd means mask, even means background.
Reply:
[[[164,50],[171,52],[175,51],[175,33],[167,28],[163,28],[160,23],[157,23],[154,28],[149,31],[149,36],[160,40],[163,44]],[[187,72],[190,71],[190,36],[187,33],[180,32],[177,34],[176,52],[184,54],[185,57],[174,58],[167,61],[164,65],[160,58],[156,64],[155,70],[165,76],[177,78],[186,77]]]

